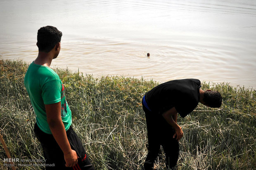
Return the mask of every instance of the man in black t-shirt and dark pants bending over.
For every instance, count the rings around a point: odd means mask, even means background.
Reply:
[[[142,106],[147,122],[148,155],[144,163],[145,170],[154,168],[154,161],[160,146],[166,154],[166,168],[173,169],[179,156],[178,141],[183,136],[177,124],[178,113],[185,117],[198,103],[219,108],[222,97],[219,92],[201,90],[197,79],[171,80],[160,84],[147,92]]]

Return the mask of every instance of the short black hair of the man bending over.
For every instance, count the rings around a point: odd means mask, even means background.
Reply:
[[[203,100],[211,108],[219,108],[222,104],[222,96],[218,91],[206,90]]]

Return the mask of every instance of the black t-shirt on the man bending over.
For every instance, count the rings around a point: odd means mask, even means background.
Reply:
[[[175,107],[185,117],[198,105],[200,84],[197,79],[171,80],[147,92],[145,99],[153,112],[162,114]]]

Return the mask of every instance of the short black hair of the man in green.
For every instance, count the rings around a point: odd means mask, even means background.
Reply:
[[[60,42],[62,32],[56,27],[45,26],[37,32],[37,46],[39,51],[50,52],[54,46]]]

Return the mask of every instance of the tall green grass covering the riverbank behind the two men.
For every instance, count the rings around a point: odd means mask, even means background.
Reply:
[[[0,133],[13,158],[39,160],[43,152],[33,133],[35,117],[23,85],[27,67],[22,61],[0,60]],[[124,77],[94,78],[68,69],[55,71],[65,85],[74,130],[95,168],[142,168],[147,131],[141,99],[157,83]],[[223,106],[216,110],[199,104],[187,117],[178,117],[184,132],[178,169],[255,169],[256,91],[225,83],[202,84],[202,89],[208,88],[222,94]],[[159,158],[163,156],[161,151]],[[7,169],[5,158],[0,145],[0,169]],[[157,160],[156,168],[163,167],[164,161]],[[19,169],[40,167],[27,165]]]

